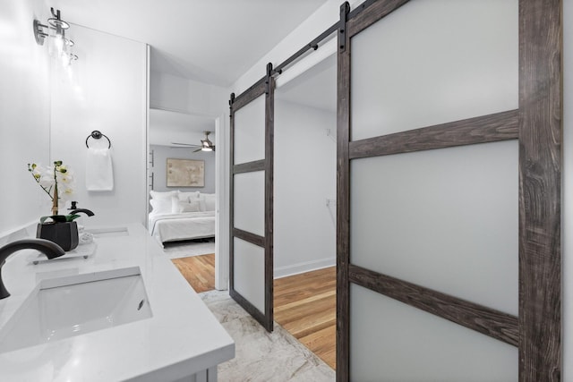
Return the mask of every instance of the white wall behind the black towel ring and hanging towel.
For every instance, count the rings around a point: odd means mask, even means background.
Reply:
[[[80,59],[52,73],[51,157],[73,168],[79,207],[96,215],[84,225],[146,221],[147,46],[72,25]],[[87,191],[86,138],[94,130],[111,140],[113,191]],[[89,140],[107,147],[107,140]]]

